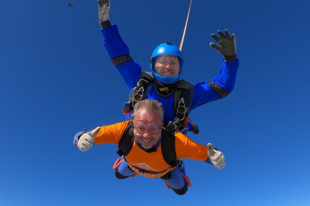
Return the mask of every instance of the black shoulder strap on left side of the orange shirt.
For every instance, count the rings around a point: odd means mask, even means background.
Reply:
[[[129,122],[127,128],[125,129],[120,141],[119,141],[119,150],[116,152],[120,156],[127,155],[133,145],[134,135],[133,135],[133,127],[132,122]]]

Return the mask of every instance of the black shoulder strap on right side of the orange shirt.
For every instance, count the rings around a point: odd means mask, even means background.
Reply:
[[[167,164],[171,167],[176,167],[179,160],[176,154],[175,127],[171,123],[161,132],[161,153]]]

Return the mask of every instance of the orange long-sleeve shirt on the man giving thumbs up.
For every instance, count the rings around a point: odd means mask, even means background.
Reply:
[[[94,143],[111,143],[118,145],[128,123],[129,122],[126,121],[114,125],[102,126],[95,137]],[[208,158],[208,149],[206,145],[198,144],[180,132],[175,133],[175,145],[178,159],[189,158],[205,161]],[[129,154],[125,156],[125,159],[134,172],[149,178],[161,177],[173,169],[165,162],[160,145],[157,147],[156,152],[147,153],[141,150],[134,141],[132,149]],[[141,173],[136,168],[132,167],[132,165],[149,171],[165,172],[160,174]]]

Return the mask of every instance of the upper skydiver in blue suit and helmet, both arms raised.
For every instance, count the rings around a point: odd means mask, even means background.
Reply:
[[[176,129],[183,133],[187,130],[198,133],[198,126],[188,119],[189,112],[205,103],[226,97],[234,88],[239,67],[235,35],[230,35],[227,29],[225,34],[220,30],[217,31],[220,37],[211,35],[220,46],[213,42],[210,46],[224,58],[222,58],[219,74],[210,81],[191,85],[180,79],[184,58],[182,52],[172,43],[163,43],[155,48],[151,56],[151,73],[145,75],[141,67],[129,56],[129,49],[123,42],[118,27],[110,23],[110,0],[97,0],[97,3],[105,49],[124,78],[129,91],[133,93],[127,104],[129,106],[127,110],[133,110],[134,103],[141,99],[157,100],[162,103],[165,111],[165,125],[171,121]],[[147,78],[143,80],[144,76]],[[147,86],[139,86],[144,81],[149,81]]]

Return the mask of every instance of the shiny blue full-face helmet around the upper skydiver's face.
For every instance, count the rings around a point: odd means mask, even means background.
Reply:
[[[156,59],[158,59],[159,56],[161,55],[172,55],[178,58],[179,60],[179,73],[176,76],[161,76],[159,74],[157,74],[157,71],[155,70],[155,62]],[[182,52],[179,50],[178,47],[176,47],[175,45],[173,45],[172,43],[163,43],[160,44],[158,47],[155,48],[155,50],[152,53],[151,56],[151,71],[152,71],[152,75],[153,77],[155,77],[155,79],[163,84],[173,84],[177,81],[179,81],[180,77],[182,76],[183,73],[183,63],[184,63],[184,59],[183,59],[183,54]]]

